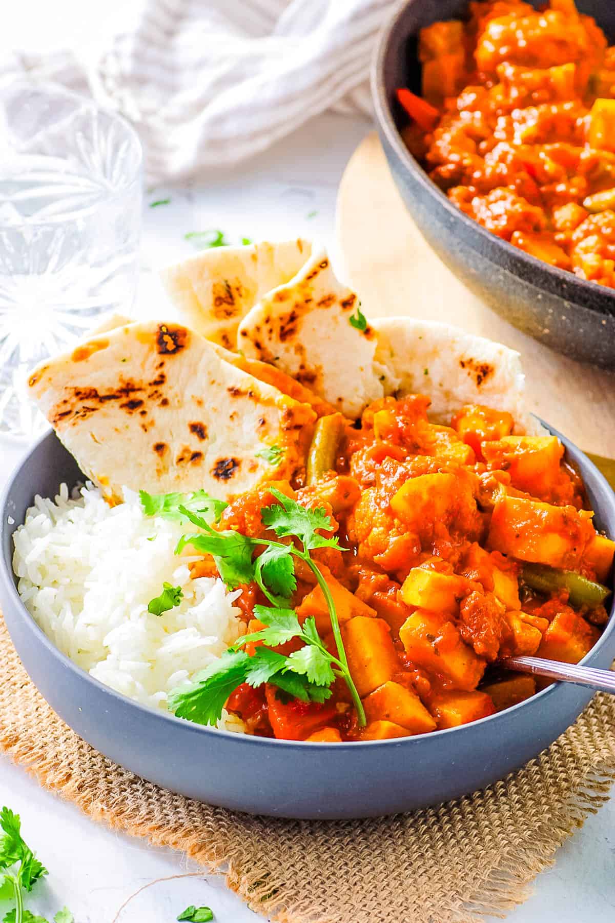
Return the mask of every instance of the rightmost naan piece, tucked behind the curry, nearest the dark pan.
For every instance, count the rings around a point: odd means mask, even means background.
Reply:
[[[376,318],[376,358],[385,367],[387,394],[426,394],[430,417],[450,424],[465,403],[513,414],[515,432],[543,432],[526,411],[518,353],[447,324],[416,318]]]

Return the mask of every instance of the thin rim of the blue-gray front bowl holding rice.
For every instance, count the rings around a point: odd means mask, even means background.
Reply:
[[[564,444],[564,450],[567,451],[568,447],[570,446],[571,448],[573,448],[575,451],[579,453],[579,455],[581,456],[582,465],[585,469],[582,475],[584,476],[586,471],[589,471],[594,474],[594,476],[597,478],[597,485],[599,487],[602,487],[603,489],[606,489],[607,496],[609,496],[610,502],[612,503],[613,509],[615,510],[615,493],[611,490],[608,481],[606,480],[604,475],[597,469],[594,462],[592,462],[589,458],[587,458],[587,456],[585,455],[585,452],[578,449],[578,447],[575,446],[574,443],[572,443],[569,439],[563,437],[562,434],[558,432],[558,430],[554,429],[553,427],[548,426],[547,424],[545,424],[545,426],[547,426],[547,428],[549,429],[550,433],[552,433],[552,435],[557,436],[558,438],[562,439],[563,444]],[[18,613],[18,617],[28,622],[28,627],[30,628],[30,630],[33,631],[38,641],[40,641],[42,645],[47,649],[47,652],[50,653],[53,657],[59,659],[60,663],[63,666],[65,666],[69,670],[69,672],[72,673],[79,682],[82,683],[85,681],[86,683],[91,683],[103,695],[108,695],[111,697],[112,700],[117,701],[120,706],[124,706],[128,708],[133,707],[136,709],[137,712],[144,713],[144,716],[158,718],[162,722],[169,722],[170,727],[171,726],[178,726],[178,727],[181,726],[183,727],[183,730],[189,733],[194,733],[197,735],[204,735],[206,738],[209,737],[212,741],[219,739],[219,735],[222,734],[227,739],[231,738],[232,740],[242,741],[242,746],[248,746],[248,745],[256,746],[256,747],[280,747],[282,746],[286,748],[293,748],[296,746],[300,746],[302,748],[311,747],[314,741],[285,740],[285,739],[278,739],[277,737],[257,737],[255,735],[250,735],[250,734],[240,734],[236,731],[227,731],[224,728],[212,727],[210,725],[198,725],[195,722],[188,721],[187,719],[179,718],[177,715],[171,712],[163,712],[161,709],[154,708],[151,705],[146,705],[146,704],[143,704],[142,702],[135,701],[134,699],[131,699],[129,696],[126,696],[121,692],[117,692],[115,689],[112,689],[110,686],[105,685],[104,683],[101,682],[100,679],[90,676],[86,670],[78,666],[65,653],[62,653],[62,651],[60,651],[60,649],[55,646],[51,638],[49,638],[45,634],[45,632],[41,629],[41,627],[35,621],[34,617],[30,615],[30,612],[26,608],[26,605],[24,604],[24,602],[21,599],[21,596],[18,593],[18,589],[17,589],[16,582],[15,582],[16,574],[12,567],[12,558],[13,558],[12,553],[10,555],[10,558],[11,558],[10,563],[8,564],[6,563],[5,556],[2,553],[4,534],[6,533],[7,529],[11,530],[11,535],[9,536],[8,540],[9,540],[9,543],[11,543],[9,547],[12,548],[12,541],[13,541],[12,533],[18,528],[18,525],[20,524],[17,522],[12,522],[12,523],[8,522],[9,517],[11,519],[14,519],[14,517],[12,517],[11,514],[8,513],[7,511],[7,501],[11,495],[13,485],[15,485],[16,482],[18,481],[18,478],[21,476],[21,473],[24,467],[26,467],[29,464],[32,455],[41,448],[42,444],[45,441],[53,440],[53,439],[57,439],[58,442],[60,441],[52,429],[44,433],[39,439],[36,440],[36,442],[33,443],[32,446],[30,446],[30,449],[22,456],[22,458],[17,463],[15,469],[13,470],[13,472],[8,478],[8,481],[6,482],[6,485],[4,487],[4,490],[2,491],[2,494],[0,494],[0,591],[3,591],[2,595],[5,597],[5,599],[7,596],[9,597],[8,605],[13,604],[15,611]],[[65,451],[67,452],[68,450],[65,450]],[[610,495],[612,495],[612,497]],[[35,496],[38,496],[38,495],[35,495]],[[591,650],[585,654],[585,657],[581,661],[579,661],[579,664],[585,665],[585,663],[588,660],[593,659],[595,654],[600,650],[602,646],[604,646],[604,644],[609,640],[609,637],[614,633],[615,633],[615,586],[613,587],[613,591],[612,591],[609,619],[602,631],[602,634],[598,638],[596,644],[594,644]],[[33,682],[33,680],[31,681]],[[395,738],[386,739],[386,740],[347,740],[347,741],[342,741],[341,743],[317,741],[317,743],[318,743],[319,748],[322,748],[324,750],[325,749],[335,749],[336,752],[338,752],[340,748],[357,749],[358,747],[364,748],[364,747],[383,747],[383,746],[389,746],[389,747],[391,746],[396,746],[396,747],[420,746],[427,739],[434,739],[434,738],[440,739],[441,737],[443,737],[443,735],[449,735],[449,734],[454,734],[454,733],[457,735],[460,735],[463,733],[466,733],[466,734],[473,733],[474,730],[479,725],[485,725],[488,723],[491,725],[495,725],[495,723],[505,724],[510,720],[510,716],[518,712],[520,709],[527,707],[528,705],[535,705],[536,703],[539,703],[539,702],[550,701],[550,699],[552,699],[553,696],[557,695],[558,691],[559,690],[561,691],[562,687],[565,687],[566,685],[568,684],[564,684],[559,681],[553,682],[546,689],[541,689],[539,692],[536,692],[533,696],[530,696],[528,699],[524,699],[523,701],[517,702],[515,705],[512,705],[509,708],[503,709],[502,712],[496,712],[496,713],[487,715],[487,717],[485,718],[479,718],[478,721],[472,721],[466,725],[458,725],[456,727],[445,727],[445,728],[441,728],[440,730],[430,731],[426,734],[415,734],[415,735],[410,735],[408,737],[395,737]]]

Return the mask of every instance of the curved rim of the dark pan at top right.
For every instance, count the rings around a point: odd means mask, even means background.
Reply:
[[[508,256],[511,262],[517,262],[519,267],[524,268],[524,278],[531,279],[536,288],[547,288],[551,294],[556,294],[565,301],[572,301],[574,300],[571,297],[572,292],[567,294],[565,290],[569,286],[572,286],[573,290],[578,287],[581,293],[585,293],[588,296],[589,301],[602,299],[605,305],[604,308],[602,308],[591,304],[585,304],[584,299],[584,304],[581,306],[575,305],[575,308],[583,307],[585,310],[598,315],[598,317],[615,318],[615,289],[611,289],[606,285],[598,285],[597,282],[591,282],[588,279],[581,279],[570,270],[561,270],[557,266],[550,266],[549,263],[545,263],[544,260],[538,259],[538,257],[532,257],[530,254],[526,253],[525,250],[513,246],[513,244],[510,244],[507,240],[498,237],[497,234],[492,234],[491,231],[488,231],[487,228],[484,228],[479,222],[470,218],[469,215],[453,205],[450,199],[444,195],[442,189],[436,186],[433,180],[430,179],[429,175],[423,170],[420,163],[403,143],[396,125],[396,119],[391,104],[384,89],[384,65],[389,54],[390,44],[397,28],[403,21],[406,11],[418,2],[419,0],[397,0],[396,6],[393,7],[388,18],[384,22],[384,26],[380,30],[370,67],[370,84],[376,119],[387,141],[395,150],[396,156],[403,163],[408,172],[420,183],[420,186],[439,202],[448,215],[454,220],[461,222],[461,224],[467,228],[468,232],[479,234],[479,237],[485,241],[486,245],[501,246],[503,252]],[[414,31],[408,31],[406,38],[415,34]],[[490,262],[493,262],[488,253],[484,255]],[[513,271],[512,268],[509,267],[505,269],[509,272]],[[513,272],[513,274],[516,273]],[[555,285],[553,283],[555,283]],[[555,290],[555,286],[558,283],[564,291]]]

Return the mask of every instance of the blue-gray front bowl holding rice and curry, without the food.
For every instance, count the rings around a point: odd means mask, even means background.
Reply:
[[[559,435],[559,434],[556,434]],[[615,535],[615,494],[571,443],[597,525]],[[592,692],[555,684],[471,725],[420,737],[308,744],[245,737],[194,725],[124,698],[53,646],[22,604],[11,566],[12,534],[35,494],[84,480],[53,433],[30,451],[0,500],[0,601],[23,665],[80,737],[133,773],[188,797],[292,818],[372,817],[436,804],[502,779],[538,755],[585,708]],[[615,619],[583,661],[609,667]]]

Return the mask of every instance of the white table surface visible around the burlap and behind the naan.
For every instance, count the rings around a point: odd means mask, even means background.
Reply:
[[[315,235],[331,244],[337,183],[368,129],[359,119],[321,116],[242,168],[211,176],[207,186],[148,193],[147,202],[169,196],[171,203],[145,209],[139,313],[160,313],[164,296],[152,268],[195,252],[183,239],[188,231],[219,228],[231,240]],[[313,211],[317,214],[308,217]],[[0,486],[25,448],[0,438]],[[0,803],[21,814],[26,838],[50,870],[28,904],[50,918],[64,904],[77,923],[112,923],[116,917],[117,923],[170,923],[190,904],[211,906],[218,923],[261,918],[225,888],[220,876],[207,876],[202,869],[195,877],[164,881],[199,869],[171,850],[89,821],[6,757],[0,757]],[[562,847],[526,904],[507,917],[511,923],[610,921],[615,909],[614,821],[611,801]],[[0,910],[4,915],[5,907]]]

